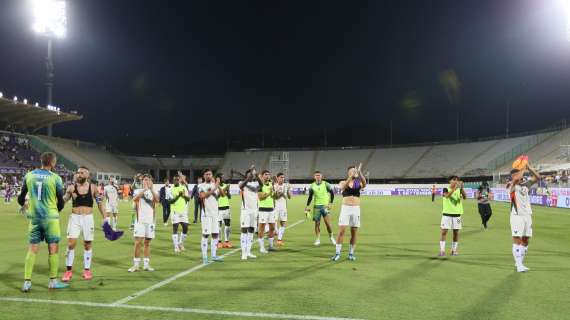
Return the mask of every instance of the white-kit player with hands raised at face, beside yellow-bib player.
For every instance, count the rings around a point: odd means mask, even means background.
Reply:
[[[253,234],[257,225],[257,214],[259,209],[258,191],[261,188],[261,181],[256,176],[255,169],[252,167],[245,172],[245,179],[239,182],[241,190],[241,212],[240,212],[240,228],[241,228],[241,259],[254,259],[255,255],[251,254],[253,245]]]

